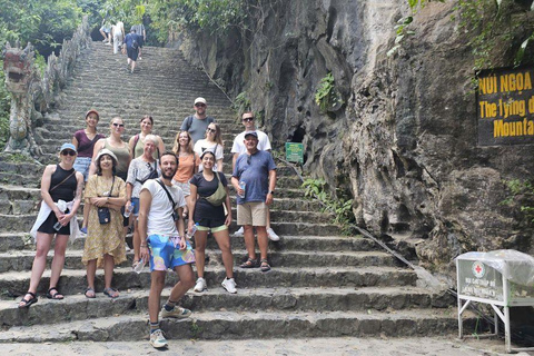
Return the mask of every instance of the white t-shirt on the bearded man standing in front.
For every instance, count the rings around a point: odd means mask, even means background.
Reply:
[[[165,188],[170,192],[177,209],[186,206],[184,191],[178,186],[165,186]],[[147,217],[147,235],[178,236],[175,220],[172,220],[172,202],[167,192],[156,179],[147,180],[142,185],[141,191],[145,189],[152,196],[152,205]]]

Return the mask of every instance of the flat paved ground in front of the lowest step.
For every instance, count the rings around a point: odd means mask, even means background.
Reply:
[[[170,340],[167,350],[148,342],[0,344],[1,355],[372,355],[372,356],[493,356],[505,355],[503,340],[456,340],[453,338],[314,338],[260,340]],[[534,353],[516,355],[533,356]]]

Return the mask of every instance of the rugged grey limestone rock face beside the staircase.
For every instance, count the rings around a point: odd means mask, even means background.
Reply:
[[[413,244],[427,265],[447,270],[466,250],[534,254],[532,230],[501,205],[503,180],[534,171],[532,147],[476,146],[474,58],[452,3],[429,2],[393,57],[404,1],[269,6],[250,31],[181,47],[227,91],[246,91],[275,147],[301,141],[305,170],[350,191],[359,226]],[[329,71],[344,105],[322,112],[314,96]]]

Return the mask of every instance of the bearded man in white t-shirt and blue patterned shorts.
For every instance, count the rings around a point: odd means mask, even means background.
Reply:
[[[174,152],[164,152],[159,166],[161,178],[147,180],[139,194],[139,236],[141,259],[150,261],[150,294],[148,314],[150,317],[150,345],[167,347],[168,343],[159,328],[159,307],[167,269],[174,269],[179,281],[170,290],[169,299],[161,308],[161,318],[187,318],[191,310],[177,306],[188,289],[195,285],[191,264],[195,253],[186,239],[182,209],[186,206],[184,191],[172,185],[178,169]]]

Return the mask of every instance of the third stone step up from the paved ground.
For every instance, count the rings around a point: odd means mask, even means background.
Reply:
[[[208,285],[217,285],[225,278],[224,268],[214,267],[206,274]],[[372,286],[415,286],[417,275],[408,269],[396,267],[322,267],[291,268],[273,266],[269,273],[258,268],[235,268],[236,283],[240,288],[259,287],[372,287]],[[46,270],[39,284],[38,293],[46,293],[49,286],[50,270]],[[20,296],[28,290],[30,271],[8,271],[0,274],[0,290],[11,296]],[[168,274],[166,285],[177,283],[175,274]],[[150,286],[149,271],[136,274],[130,267],[117,267],[113,273],[113,286],[119,290],[131,288],[147,289]],[[86,271],[63,269],[58,288],[66,295],[77,294],[87,286]],[[97,271],[96,288],[103,288],[103,271]]]

